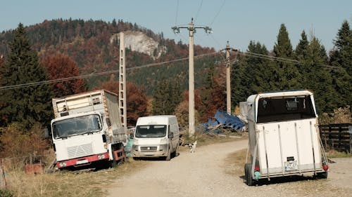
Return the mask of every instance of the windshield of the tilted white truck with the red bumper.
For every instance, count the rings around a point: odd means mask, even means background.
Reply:
[[[84,133],[94,133],[101,130],[101,120],[99,115],[92,114],[56,121],[52,125],[55,139],[82,135]]]

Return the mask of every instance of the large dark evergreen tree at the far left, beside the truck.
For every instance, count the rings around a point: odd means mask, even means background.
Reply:
[[[46,69],[38,63],[37,52],[31,50],[23,24],[14,30],[14,39],[9,43],[11,52],[0,67],[0,86],[15,86],[48,80]],[[49,123],[51,118],[51,87],[28,86],[0,91],[1,123],[18,121],[31,128],[36,122]]]

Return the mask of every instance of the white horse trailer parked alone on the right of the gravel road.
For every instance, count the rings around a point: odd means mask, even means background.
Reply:
[[[327,178],[313,93],[291,90],[251,95],[246,101],[249,149],[246,184],[310,173]]]

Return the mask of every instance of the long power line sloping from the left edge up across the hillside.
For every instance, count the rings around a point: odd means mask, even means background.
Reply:
[[[205,54],[201,54],[201,55],[196,55],[194,57],[204,57],[204,56],[208,56],[208,55],[215,55],[219,52],[213,52],[213,53],[205,53]],[[139,67],[132,67],[132,68],[126,68],[127,70],[134,70],[134,69],[142,69],[142,68],[146,68],[146,67],[153,67],[153,66],[158,66],[161,64],[169,64],[172,62],[180,62],[183,60],[188,60],[189,57],[183,57],[183,58],[179,58],[176,60],[169,60],[169,61],[165,61],[165,62],[158,62],[158,63],[151,63],[151,64],[144,64],[142,66]],[[66,78],[61,78],[61,79],[52,79],[52,80],[47,80],[47,81],[37,81],[37,82],[32,82],[32,83],[23,83],[23,84],[17,84],[17,85],[11,85],[11,86],[2,86],[0,87],[0,90],[13,90],[13,89],[17,89],[17,88],[27,88],[30,86],[39,86],[39,85],[45,85],[45,84],[50,84],[50,83],[58,83],[58,82],[63,82],[63,81],[72,81],[72,80],[77,80],[77,79],[86,79],[92,76],[102,76],[102,75],[106,75],[106,74],[113,74],[113,73],[118,73],[119,69],[114,69],[111,71],[107,71],[107,72],[99,72],[99,73],[92,73],[92,74],[84,74],[84,75],[80,75],[80,76],[70,76],[70,77],[66,77]]]

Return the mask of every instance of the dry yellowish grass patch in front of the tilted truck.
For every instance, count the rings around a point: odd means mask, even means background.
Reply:
[[[115,168],[96,172],[55,172],[25,175],[24,172],[7,172],[7,188],[15,196],[104,196],[107,188],[120,176],[143,168],[147,161],[130,161]]]

